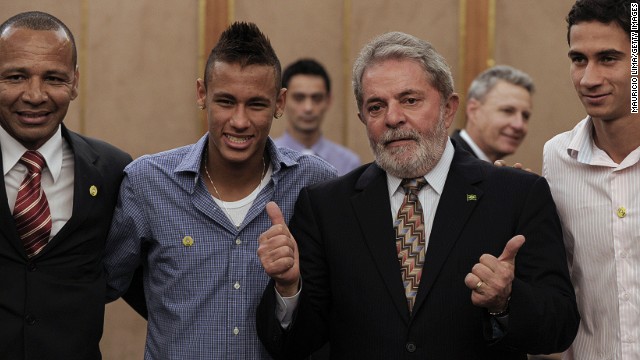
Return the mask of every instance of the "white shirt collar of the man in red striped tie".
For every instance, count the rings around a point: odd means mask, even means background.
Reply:
[[[2,149],[3,175],[7,175],[27,151],[27,148],[2,127],[0,127],[0,149]],[[55,183],[62,171],[62,127],[60,125],[56,133],[38,149],[38,152],[47,162],[47,168]]]

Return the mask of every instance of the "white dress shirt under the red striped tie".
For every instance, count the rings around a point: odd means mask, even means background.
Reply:
[[[18,188],[27,176],[27,167],[19,162],[27,148],[2,127],[0,127],[0,148],[2,149],[5,190],[9,209],[13,212]],[[62,137],[60,126],[58,126],[56,133],[37,150],[47,164],[42,171],[41,186],[47,196],[51,212],[52,223],[49,236],[51,239],[69,221],[73,212],[73,168],[75,161],[71,147]]]

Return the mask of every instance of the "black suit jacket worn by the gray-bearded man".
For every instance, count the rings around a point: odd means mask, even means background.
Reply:
[[[424,209],[433,211],[433,209]],[[302,292],[292,325],[275,319],[273,281],[257,325],[274,357],[297,359],[326,340],[333,359],[526,359],[573,341],[579,315],[560,222],[544,178],[498,168],[456,146],[410,314],[395,248],[386,174],[365,165],[303,189],[290,223]],[[508,331],[492,342],[489,315],[464,278],[484,253],[522,234]]]

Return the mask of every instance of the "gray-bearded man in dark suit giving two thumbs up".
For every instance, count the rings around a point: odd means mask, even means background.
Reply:
[[[270,353],[302,358],[326,341],[334,359],[566,349],[579,314],[544,178],[449,140],[458,96],[426,41],[374,39],[353,84],[375,163],[303,189],[289,228],[267,207],[258,255],[272,281],[257,324]]]

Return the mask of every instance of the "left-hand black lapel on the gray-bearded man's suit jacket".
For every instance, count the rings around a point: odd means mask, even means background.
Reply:
[[[371,164],[356,183],[356,191],[360,192],[353,196],[351,203],[365,243],[389,290],[392,302],[408,323],[409,310],[400,277],[385,172]]]

